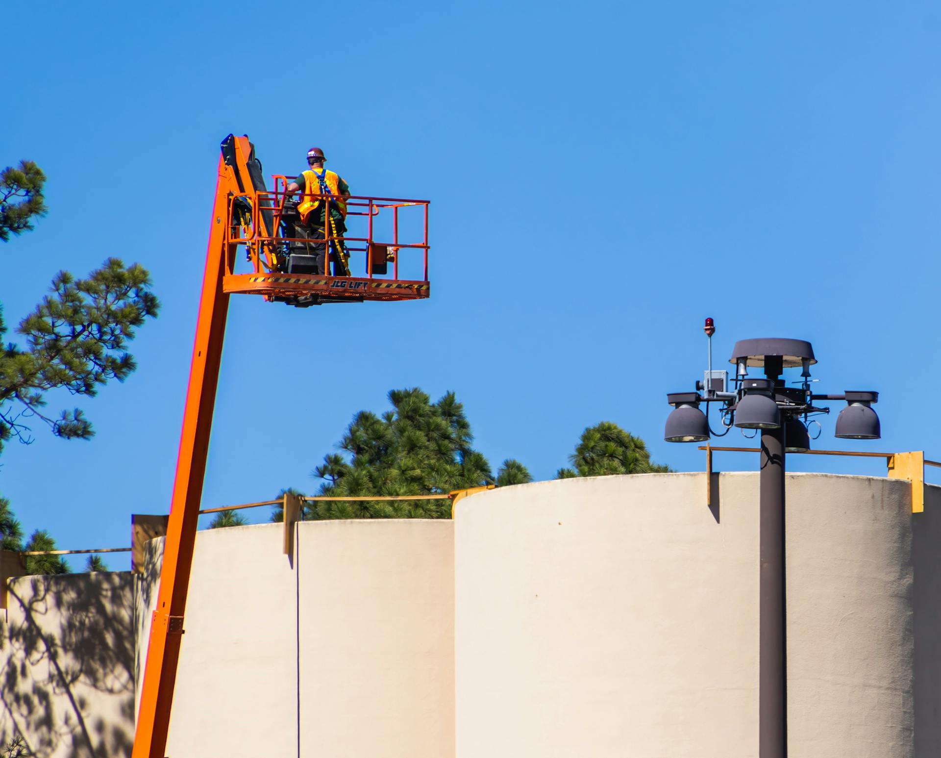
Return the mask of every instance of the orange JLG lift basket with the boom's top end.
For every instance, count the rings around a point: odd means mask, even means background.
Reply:
[[[247,137],[223,140],[220,165],[231,170],[219,173],[216,207],[224,199],[226,213],[215,223],[225,224],[221,244],[243,253],[225,257],[225,292],[296,306],[429,296],[428,201],[353,195],[345,202],[345,232],[325,223],[303,234],[297,203],[324,203],[330,218],[337,198],[303,194],[303,186],[287,194],[291,174],[274,174],[269,191]]]

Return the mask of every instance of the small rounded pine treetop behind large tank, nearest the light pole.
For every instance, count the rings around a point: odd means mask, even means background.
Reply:
[[[650,453],[640,437],[634,437],[610,421],[587,427],[568,460],[575,467],[574,470],[559,469],[556,478],[670,471],[669,466],[651,462]]]

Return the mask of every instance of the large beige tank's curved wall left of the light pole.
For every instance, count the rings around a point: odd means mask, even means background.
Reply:
[[[458,758],[755,755],[757,481],[565,479],[456,508]]]

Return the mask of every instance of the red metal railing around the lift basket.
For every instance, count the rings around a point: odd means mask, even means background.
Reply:
[[[284,256],[284,246],[288,243],[323,243],[327,248],[327,271],[329,271],[329,261],[333,260],[334,244],[343,243],[346,250],[350,253],[365,252],[365,271],[366,277],[388,278],[373,274],[373,255],[384,254],[386,250],[391,252],[392,262],[392,280],[399,278],[399,252],[400,250],[422,250],[423,251],[423,280],[428,281],[428,201],[426,200],[407,200],[403,198],[376,198],[368,196],[353,195],[346,199],[346,232],[344,234],[333,234],[331,224],[329,223],[329,214],[331,206],[337,202],[337,199],[328,195],[311,194],[295,192],[292,195],[286,193],[287,185],[294,181],[284,175],[276,174],[274,177],[275,188],[273,191],[264,192],[246,192],[234,196],[229,204],[229,225],[227,227],[226,241],[229,244],[247,245],[247,259],[254,266],[256,272],[263,272],[265,269],[279,270],[280,259]],[[239,197],[245,197],[251,204],[250,220],[248,224],[243,223],[244,216],[235,214],[236,201]],[[307,198],[314,198],[325,204],[325,221],[323,237],[291,237],[282,234],[282,221],[293,220],[285,218],[284,204],[288,199],[296,202],[303,202]],[[423,214],[421,241],[404,241],[400,234],[400,209],[420,208]],[[376,239],[375,218],[383,211],[392,212],[391,218],[391,240]],[[358,223],[362,219],[364,223]],[[299,221],[299,218],[297,219]],[[365,226],[365,229],[357,227]],[[268,228],[270,227],[270,228]],[[359,234],[364,235],[359,235]],[[407,237],[406,237],[407,238]],[[228,266],[227,266],[228,268]],[[234,273],[228,270],[227,273]],[[351,275],[353,273],[352,265],[350,267]]]

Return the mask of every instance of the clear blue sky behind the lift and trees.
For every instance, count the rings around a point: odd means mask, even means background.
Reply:
[[[737,339],[798,337],[821,391],[882,393],[882,441],[837,441],[831,416],[818,447],[941,459],[926,398],[941,369],[939,14],[858,1],[9,5],[0,166],[37,161],[50,213],[0,247],[8,322],[57,270],[110,255],[152,271],[163,310],[133,344],[136,374],[80,403],[95,439],[37,427],[0,457],[0,493],[67,548],[125,545],[132,512],[167,512],[231,132],[266,175],[303,169],[315,144],[354,194],[430,199],[432,297],[308,310],[233,297],[204,507],[312,492],[352,414],[384,410],[393,387],[454,390],[494,466],[517,458],[537,478],[600,420],[701,470],[662,425],[664,393],[705,368],[707,315],[716,363]]]

